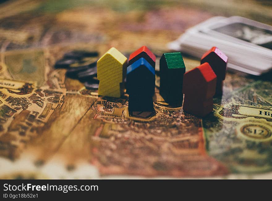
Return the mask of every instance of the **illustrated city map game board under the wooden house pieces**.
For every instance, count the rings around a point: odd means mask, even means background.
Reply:
[[[159,75],[155,112],[130,115],[127,95],[98,96],[54,68],[71,50],[101,56],[115,46],[127,55],[146,45],[160,57],[167,42],[212,14],[79,2],[51,8],[50,1],[17,1],[28,6],[0,16],[0,178],[272,178],[271,74],[227,71],[222,98],[199,119],[164,102]],[[176,16],[183,12],[198,16]],[[200,64],[183,58],[186,71]]]

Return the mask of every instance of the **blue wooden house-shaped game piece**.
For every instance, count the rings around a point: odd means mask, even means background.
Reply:
[[[129,111],[154,111],[155,69],[145,58],[127,67],[126,82]]]

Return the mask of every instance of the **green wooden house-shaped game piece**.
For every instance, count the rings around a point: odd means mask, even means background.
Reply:
[[[180,52],[164,53],[159,60],[159,93],[170,105],[181,105],[185,64]]]

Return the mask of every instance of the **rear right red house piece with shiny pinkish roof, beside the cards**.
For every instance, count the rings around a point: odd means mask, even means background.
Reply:
[[[222,95],[223,80],[226,77],[227,56],[217,47],[212,47],[205,54],[203,54],[200,63],[208,62],[217,76],[216,95]]]

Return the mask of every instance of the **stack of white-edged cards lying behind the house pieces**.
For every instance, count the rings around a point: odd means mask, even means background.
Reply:
[[[212,46],[228,56],[228,68],[253,75],[272,68],[272,26],[239,16],[210,18],[168,44],[198,58]]]

